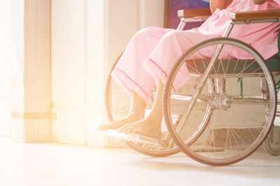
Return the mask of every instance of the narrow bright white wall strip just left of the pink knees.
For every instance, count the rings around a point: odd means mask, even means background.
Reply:
[[[90,132],[92,127],[97,127],[106,120],[104,110],[104,84],[109,52],[109,1],[88,0],[86,10],[86,29],[87,38],[85,56],[87,59],[87,90],[85,112],[85,136],[87,144],[90,146],[103,146],[104,137],[94,135]]]

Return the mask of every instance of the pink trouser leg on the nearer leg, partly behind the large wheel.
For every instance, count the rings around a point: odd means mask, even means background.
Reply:
[[[218,37],[218,35],[205,35],[195,31],[170,31],[162,37],[157,47],[155,47],[151,55],[144,62],[146,70],[154,79],[160,78],[163,84],[165,84],[170,70],[172,70],[172,67],[184,52],[198,42]],[[202,55],[208,55],[207,51]],[[177,90],[188,79],[190,79],[188,67],[183,65],[179,71],[179,79],[174,81],[174,89]]]

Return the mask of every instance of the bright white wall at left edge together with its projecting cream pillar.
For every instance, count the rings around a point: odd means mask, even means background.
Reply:
[[[0,136],[49,141],[50,0],[1,0],[0,22]]]

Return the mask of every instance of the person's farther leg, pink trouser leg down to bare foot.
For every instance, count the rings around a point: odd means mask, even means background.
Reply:
[[[149,27],[134,35],[112,72],[113,79],[131,96],[130,113],[118,121],[99,126],[99,130],[116,129],[144,118],[146,101],[155,86],[153,77],[144,68],[144,61],[153,52],[162,36],[170,29]]]

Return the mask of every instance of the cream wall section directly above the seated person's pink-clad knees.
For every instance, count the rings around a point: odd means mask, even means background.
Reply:
[[[125,49],[130,38],[148,26],[163,26],[165,0],[109,1],[109,61]]]

